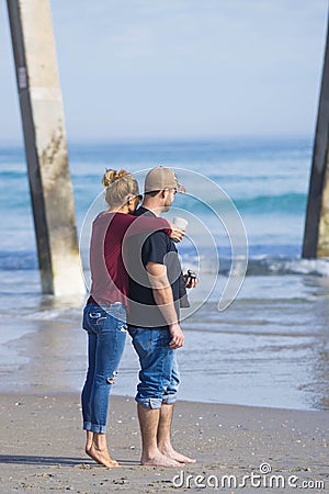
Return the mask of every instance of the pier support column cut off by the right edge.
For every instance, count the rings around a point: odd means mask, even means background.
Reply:
[[[322,71],[318,120],[313,150],[304,258],[329,257],[329,33]]]

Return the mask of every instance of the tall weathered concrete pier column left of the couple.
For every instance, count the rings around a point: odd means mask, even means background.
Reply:
[[[49,0],[7,3],[42,289],[83,293]]]

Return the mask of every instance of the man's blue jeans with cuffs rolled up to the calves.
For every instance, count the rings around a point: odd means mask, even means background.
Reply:
[[[128,326],[128,332],[140,363],[136,402],[146,408],[174,403],[180,375],[175,350],[169,347],[172,338],[169,329]]]

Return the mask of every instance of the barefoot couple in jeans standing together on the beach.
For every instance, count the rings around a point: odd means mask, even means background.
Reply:
[[[106,170],[109,210],[93,222],[90,243],[92,285],[83,311],[88,332],[88,372],[82,390],[86,452],[98,463],[117,467],[106,444],[109,396],[123,355],[126,333],[139,357],[137,411],[141,433],[140,464],[181,467],[192,460],[171,445],[173,403],[180,382],[175,349],[184,344],[180,306],[197,280],[183,276],[173,240],[184,233],[161,212],[184,192],[169,168],[152,168],[141,200],[136,179],[125,170]]]

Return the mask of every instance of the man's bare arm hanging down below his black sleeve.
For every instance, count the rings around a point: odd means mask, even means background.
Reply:
[[[184,345],[184,334],[178,322],[177,312],[173,304],[172,290],[167,276],[167,267],[157,262],[148,261],[146,265],[150,284],[152,285],[154,297],[168,323],[172,339],[169,344],[171,348],[180,348]]]

